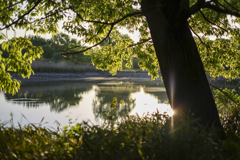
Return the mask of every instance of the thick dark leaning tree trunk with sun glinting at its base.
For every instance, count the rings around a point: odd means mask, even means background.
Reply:
[[[180,0],[158,3],[159,0],[142,0],[141,6],[149,25],[174,118],[186,118],[190,112],[194,118],[200,118],[204,126],[222,130],[187,20],[179,23],[177,18],[182,7]]]

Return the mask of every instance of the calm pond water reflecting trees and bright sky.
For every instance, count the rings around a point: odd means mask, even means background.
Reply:
[[[90,120],[101,124],[110,112],[113,97],[122,99],[113,110],[116,117],[127,114],[168,112],[172,114],[164,85],[160,81],[78,81],[22,84],[14,96],[0,92],[0,120],[7,121],[13,113],[14,124],[39,123],[45,126],[68,125]],[[22,116],[24,115],[24,116]],[[26,118],[25,118],[26,117]]]

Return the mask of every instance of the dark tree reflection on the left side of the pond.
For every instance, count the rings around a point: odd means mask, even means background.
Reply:
[[[51,111],[61,112],[78,105],[82,100],[81,94],[91,89],[91,84],[83,82],[31,84],[22,85],[13,96],[5,94],[5,98],[28,108],[37,108],[45,103],[50,105]]]

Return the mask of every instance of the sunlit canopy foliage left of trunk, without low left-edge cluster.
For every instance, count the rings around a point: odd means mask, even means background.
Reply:
[[[81,37],[82,41],[88,44],[99,43],[103,37],[105,38],[106,35],[110,33],[111,29],[113,34],[110,34],[110,38],[114,47],[107,47],[105,45],[105,43],[107,43],[106,40],[101,43],[101,45],[104,47],[101,48],[100,51],[95,49],[94,52],[87,53],[88,55],[91,55],[93,64],[99,69],[109,70],[112,74],[115,74],[117,70],[122,70],[121,64],[123,61],[126,61],[126,67],[131,67],[132,57],[135,55],[135,57],[142,58],[141,62],[139,63],[140,66],[142,66],[142,69],[148,70],[149,73],[153,75],[153,79],[158,77],[158,62],[156,60],[154,51],[152,52],[149,50],[149,48],[152,47],[143,44],[140,45],[141,47],[136,47],[136,49],[135,47],[129,48],[129,45],[132,45],[132,42],[124,40],[120,42],[118,41],[119,37],[114,36],[114,34],[117,33],[114,33],[114,31],[116,31],[117,28],[124,27],[130,32],[139,30],[141,33],[140,41],[150,38],[147,22],[142,19],[142,17],[136,16],[134,18],[125,18],[116,23],[113,28],[111,28],[110,25],[90,22],[102,21],[106,23],[113,23],[119,18],[124,17],[126,14],[139,12],[139,3],[135,0],[127,1],[127,3],[122,0],[114,0],[111,2],[100,0],[97,3],[85,3],[84,1],[71,0],[50,0],[47,2],[26,1],[20,2],[19,5],[13,5],[14,3],[18,3],[18,1],[0,3],[2,4],[1,6],[3,9],[0,12],[1,16],[4,17],[4,20],[2,20],[3,26],[6,26],[7,23],[11,23],[11,16],[16,15],[16,18],[19,18],[19,21],[12,24],[13,28],[33,30],[35,34],[55,34],[58,31],[58,22],[63,20],[65,17],[67,20],[64,20],[62,28],[69,34],[74,34],[78,37]],[[22,5],[26,5],[25,8],[27,10],[23,9],[23,7],[21,7]],[[8,6],[10,6],[8,10],[4,9]],[[30,14],[28,14],[29,10],[31,10]],[[73,15],[73,12],[78,13],[78,15]],[[28,15],[28,19],[24,17],[25,15]],[[89,20],[89,22],[85,22],[84,19],[87,21]],[[28,23],[28,21],[32,23]],[[86,23],[87,25],[85,25]],[[129,39],[129,37],[121,35],[120,38]],[[61,44],[71,42],[69,41],[69,37],[62,34],[54,35],[52,41],[54,42],[53,45],[58,47],[58,49],[62,49],[61,46],[66,47],[66,45]],[[115,45],[116,43],[118,44]],[[149,45],[152,45],[152,43],[149,42]],[[82,48],[78,48],[78,51],[80,50],[82,50]],[[136,50],[141,50],[142,52],[138,55]],[[71,50],[71,52],[76,52],[76,49],[74,48]],[[120,56],[122,53],[123,56]],[[109,54],[112,56],[108,56]],[[102,63],[105,63],[105,65],[102,65]]]

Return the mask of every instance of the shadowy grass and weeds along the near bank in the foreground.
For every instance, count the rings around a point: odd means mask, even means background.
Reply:
[[[189,118],[173,130],[171,117],[153,113],[58,126],[0,125],[1,159],[239,159],[239,110],[222,118],[226,139],[220,140],[198,120]],[[236,114],[237,113],[237,114]],[[236,122],[229,123],[229,122]],[[11,123],[10,120],[8,123]],[[9,126],[9,124],[8,124]]]

